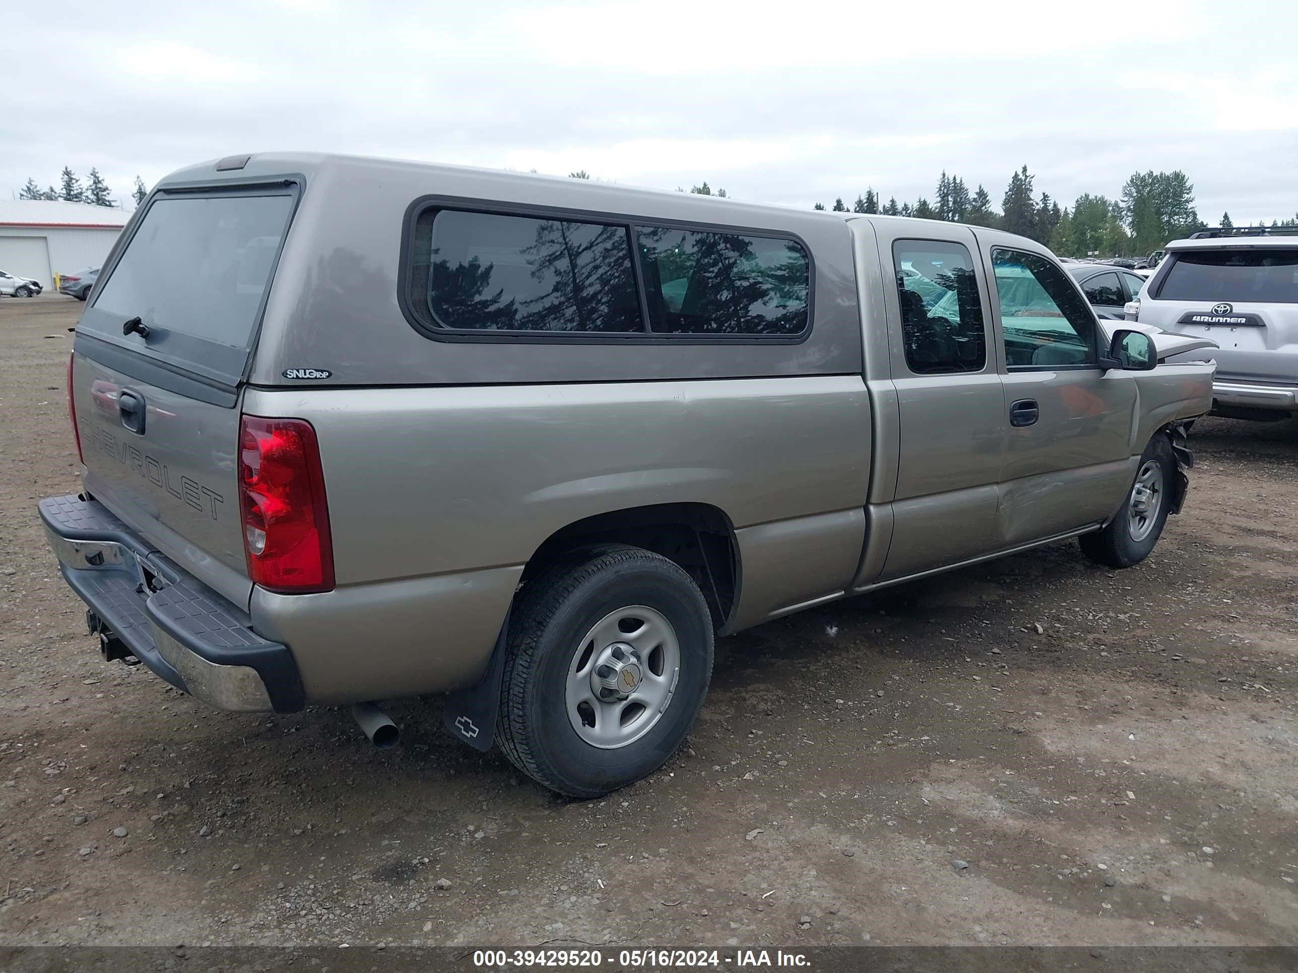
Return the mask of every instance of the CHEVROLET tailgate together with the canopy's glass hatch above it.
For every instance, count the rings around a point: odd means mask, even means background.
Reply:
[[[239,400],[296,200],[283,183],[156,195],[73,354],[86,488],[240,606]]]

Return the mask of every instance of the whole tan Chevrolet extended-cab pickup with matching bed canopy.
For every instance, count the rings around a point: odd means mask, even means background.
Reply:
[[[592,797],[680,745],[716,636],[1073,536],[1144,559],[1212,396],[1158,341],[990,230],[236,156],[104,265],[84,490],[40,515],[106,659],[380,745],[376,702],[445,693]]]

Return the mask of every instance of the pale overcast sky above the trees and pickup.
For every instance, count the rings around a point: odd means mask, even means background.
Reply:
[[[1199,215],[1298,211],[1298,3],[58,5],[9,32],[0,192],[97,166],[118,197],[182,165],[322,149],[766,202],[1115,197],[1182,169]],[[12,25],[10,25],[12,26]]]

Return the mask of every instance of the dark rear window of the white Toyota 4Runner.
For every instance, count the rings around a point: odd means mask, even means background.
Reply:
[[[1176,253],[1158,298],[1298,304],[1298,246]]]

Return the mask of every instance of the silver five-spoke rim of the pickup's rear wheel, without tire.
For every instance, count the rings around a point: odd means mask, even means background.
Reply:
[[[584,742],[618,750],[658,724],[679,679],[676,629],[657,608],[630,605],[610,611],[578,642],[563,708]],[[606,690],[602,698],[600,690]]]

